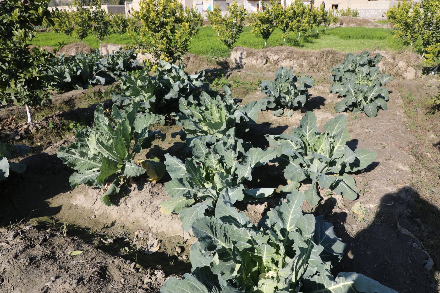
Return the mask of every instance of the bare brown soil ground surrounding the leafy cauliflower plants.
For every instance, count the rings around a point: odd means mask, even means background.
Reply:
[[[381,54],[382,70],[394,76],[394,81],[387,83],[389,109],[374,118],[342,114],[348,120],[349,147],[377,152],[371,166],[352,174],[359,198],[349,201],[330,195],[317,207],[304,204],[303,209],[323,215],[347,243],[335,273],[363,273],[401,293],[440,292],[439,254],[425,248],[428,241],[440,244],[440,221],[426,217],[429,213],[440,219],[440,206],[414,187],[417,178],[409,166],[414,161],[411,145],[417,143],[417,138],[408,127],[402,105],[403,95],[411,92],[429,97],[436,88],[425,85],[437,83],[420,77],[419,59],[411,53]],[[306,52],[286,47],[260,51],[235,48],[231,60],[213,61],[191,55],[187,66],[190,73],[203,69],[226,72],[225,78],[233,93],[243,98],[243,104],[262,98],[257,80],[273,80],[280,65],[293,66],[295,72],[300,72],[298,75],[315,79],[317,85],[309,90],[305,109],[294,112],[292,117],[259,113],[257,124],[244,139],[267,147],[264,134],[290,133],[306,110],[315,112],[319,127],[337,116],[334,105],[339,98],[329,93],[328,71],[344,55],[332,50]],[[0,109],[0,115],[5,111]],[[171,138],[179,127],[169,125],[161,130],[167,133],[167,139],[141,156],[154,154],[163,159],[169,152],[185,157],[183,142]],[[438,133],[432,135],[439,141]],[[56,151],[71,141],[65,137],[41,151],[37,149],[21,160],[28,166],[24,174],[11,175],[0,183],[0,222],[6,227],[0,230],[0,291],[157,292],[169,276],[189,272],[191,264],[186,261],[195,240],[183,232],[177,216],[159,212],[160,202],[169,199],[164,189],[169,177],[150,183],[141,176],[113,199],[116,206],[107,207],[99,201],[102,190],[70,188],[68,178],[73,170],[61,163]],[[283,184],[282,173],[274,164],[255,172],[254,183],[258,187]],[[323,196],[324,193],[321,192]],[[275,198],[238,208],[245,210],[252,221],[258,221],[278,202],[279,198]],[[22,224],[14,225],[17,222]],[[139,233],[144,235],[143,244],[136,240]],[[161,240],[159,250],[144,254],[147,245],[157,243],[156,239]],[[438,245],[431,243],[430,247]],[[71,256],[70,251],[84,252]]]

